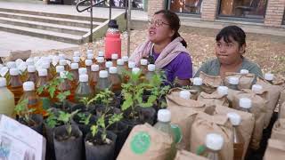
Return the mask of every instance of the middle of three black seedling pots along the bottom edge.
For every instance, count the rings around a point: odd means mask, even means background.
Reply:
[[[101,136],[98,134],[96,137]],[[94,145],[89,142],[89,140],[93,140],[91,133],[88,133],[85,137],[85,156],[86,160],[113,160],[114,159],[114,151],[117,136],[107,131],[107,138],[111,140],[110,144],[103,145]]]

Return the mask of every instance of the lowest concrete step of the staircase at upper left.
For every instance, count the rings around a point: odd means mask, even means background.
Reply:
[[[58,33],[48,30],[42,30],[37,28],[27,28],[20,26],[13,26],[9,24],[1,24],[0,30],[6,32],[12,32],[20,35],[36,36],[45,39],[51,39],[55,41],[65,42],[69,44],[82,44],[82,36],[70,35],[65,33]]]

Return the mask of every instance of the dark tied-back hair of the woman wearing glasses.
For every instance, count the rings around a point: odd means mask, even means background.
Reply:
[[[154,14],[159,14],[159,13],[162,13],[164,18],[167,19],[169,27],[175,30],[175,35],[172,36],[172,39],[171,39],[173,41],[176,37],[180,36],[180,34],[178,33],[178,30],[180,28],[180,19],[175,12],[171,12],[169,10],[160,10],[159,12],[155,12]],[[187,47],[187,43],[184,39],[181,42],[181,44],[183,44],[185,48]]]

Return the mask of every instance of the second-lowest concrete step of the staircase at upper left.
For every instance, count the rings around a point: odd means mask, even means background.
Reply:
[[[29,21],[29,20],[16,20],[4,17],[0,17],[0,23],[9,24],[13,26],[27,27],[27,28],[50,30],[53,32],[66,33],[78,36],[83,36],[90,30],[89,28],[69,27],[52,23],[44,23],[44,22]],[[96,26],[94,26],[94,28],[95,27]]]

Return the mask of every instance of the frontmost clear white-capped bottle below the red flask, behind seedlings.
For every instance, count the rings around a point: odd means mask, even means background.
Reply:
[[[102,92],[104,91],[106,88],[110,88],[111,84],[110,84],[110,80],[108,78],[108,71],[106,70],[101,70],[99,72],[99,80],[98,83],[95,86],[95,92]]]

